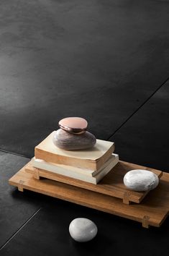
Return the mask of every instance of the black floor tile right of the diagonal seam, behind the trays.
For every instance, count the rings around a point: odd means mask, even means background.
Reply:
[[[169,172],[169,82],[157,90],[110,140],[129,162]]]

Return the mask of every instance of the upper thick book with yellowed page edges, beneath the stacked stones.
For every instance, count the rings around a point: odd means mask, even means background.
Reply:
[[[96,140],[96,145],[86,150],[62,150],[53,144],[53,134],[54,132],[35,147],[37,159],[96,171],[114,152],[114,142],[106,140]]]

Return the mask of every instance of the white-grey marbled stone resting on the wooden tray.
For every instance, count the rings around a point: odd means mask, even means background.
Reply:
[[[134,191],[147,191],[157,187],[159,179],[152,171],[132,170],[124,175],[124,185]]]

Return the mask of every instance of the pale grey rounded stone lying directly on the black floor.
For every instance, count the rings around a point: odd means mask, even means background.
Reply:
[[[75,218],[70,222],[70,236],[77,242],[88,242],[97,234],[97,226],[88,218]]]

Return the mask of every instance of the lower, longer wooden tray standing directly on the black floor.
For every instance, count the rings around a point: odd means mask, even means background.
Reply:
[[[89,208],[102,210],[134,221],[142,226],[159,227],[169,213],[169,174],[163,172],[158,187],[145,197],[141,204],[125,205],[122,200],[109,195],[82,189],[50,179],[37,180],[28,174],[23,167],[17,174],[9,179],[9,184],[18,187],[19,191],[28,189],[52,197],[74,202]]]

